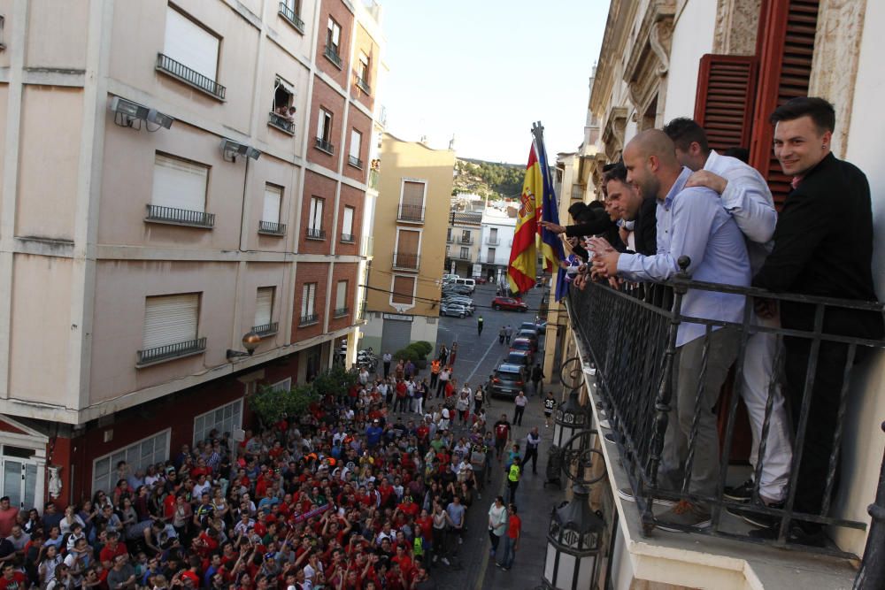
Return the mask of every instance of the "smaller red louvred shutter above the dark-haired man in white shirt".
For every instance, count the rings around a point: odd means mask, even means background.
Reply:
[[[695,120],[712,149],[750,148],[756,68],[755,56],[701,57]]]

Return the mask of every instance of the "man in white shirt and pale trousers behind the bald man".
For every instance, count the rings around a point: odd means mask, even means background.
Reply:
[[[664,126],[676,146],[676,158],[681,165],[695,171],[686,182],[687,187],[712,188],[720,195],[737,226],[741,228],[750,255],[750,270],[758,272],[773,248],[772,237],[777,223],[777,211],[766,180],[750,165],[735,157],[720,156],[707,143],[707,134],[693,119],[673,119]],[[778,327],[777,318],[754,318],[753,322],[767,327]],[[766,402],[774,380],[774,353],[777,336],[773,333],[750,333],[743,356],[743,387],[741,395],[747,406],[752,433],[750,465],[756,471],[759,438],[766,420]],[[780,387],[772,388],[771,420],[766,441],[762,472],[759,478],[758,500],[766,505],[782,507],[789,466],[793,458],[789,439],[789,422]],[[742,486],[727,488],[730,500],[750,502],[754,488],[752,479]],[[734,510],[752,525],[768,525],[770,517],[752,511]]]

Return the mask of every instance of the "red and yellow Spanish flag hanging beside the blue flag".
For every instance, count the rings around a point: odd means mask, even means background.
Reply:
[[[510,268],[507,279],[510,290],[524,293],[535,287],[537,247],[535,239],[538,235],[538,219],[536,215],[538,203],[544,193],[544,179],[535,142],[528,153],[526,180],[522,182],[522,195],[519,197],[519,214],[516,220],[516,231],[513,234],[513,248],[510,251]]]

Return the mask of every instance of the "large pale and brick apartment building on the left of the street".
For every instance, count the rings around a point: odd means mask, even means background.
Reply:
[[[0,0],[0,488],[236,439],[355,349],[380,7]],[[248,338],[245,338],[248,336]],[[254,348],[253,351],[247,349]]]

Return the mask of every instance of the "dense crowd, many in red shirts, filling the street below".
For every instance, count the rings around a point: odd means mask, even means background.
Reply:
[[[212,431],[165,463],[121,461],[115,487],[63,511],[19,512],[4,497],[0,590],[426,590],[430,571],[458,562],[495,470],[510,502],[492,502],[491,551],[509,569],[519,477],[536,469],[540,436],[521,456],[506,415],[488,424],[485,389],[459,387],[456,351],[435,359],[443,387],[406,363],[362,369],[348,391],[242,442]]]

